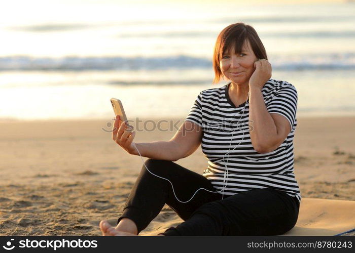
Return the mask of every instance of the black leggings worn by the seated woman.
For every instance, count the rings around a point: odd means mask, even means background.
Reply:
[[[149,170],[174,187],[177,198],[189,200],[199,188],[216,190],[200,174],[172,161],[148,159]],[[225,195],[199,190],[187,203],[176,200],[171,184],[149,173],[143,165],[123,207],[122,218],[136,224],[138,234],[169,205],[185,222],[163,235],[280,235],[292,229],[299,201],[285,192],[262,188]]]

